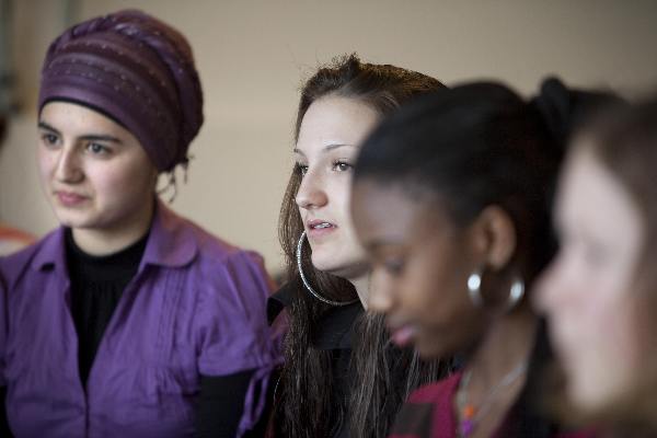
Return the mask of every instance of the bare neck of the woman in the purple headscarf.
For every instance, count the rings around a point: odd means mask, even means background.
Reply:
[[[154,201],[140,211],[137,217],[115,227],[73,228],[76,245],[90,255],[107,255],[124,250],[141,239],[150,228],[154,212]]]

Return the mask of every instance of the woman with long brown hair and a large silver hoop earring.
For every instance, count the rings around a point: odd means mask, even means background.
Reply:
[[[423,364],[391,345],[381,319],[364,312],[373,285],[348,209],[367,134],[402,103],[443,88],[354,55],[321,68],[302,88],[279,228],[288,283],[270,302],[289,321],[276,436],[385,436],[407,393],[443,374],[440,362]]]

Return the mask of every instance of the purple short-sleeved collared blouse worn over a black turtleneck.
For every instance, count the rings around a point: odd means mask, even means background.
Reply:
[[[137,275],[99,346],[87,391],[78,368],[64,229],[0,260],[0,385],[18,437],[184,437],[199,377],[255,369],[240,435],[262,414],[279,361],[262,258],[163,204]]]

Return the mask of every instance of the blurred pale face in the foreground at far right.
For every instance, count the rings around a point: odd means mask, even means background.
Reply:
[[[641,211],[586,143],[578,146],[557,194],[561,251],[543,274],[535,304],[549,318],[570,400],[596,412],[641,391],[657,344],[636,281],[645,239]]]

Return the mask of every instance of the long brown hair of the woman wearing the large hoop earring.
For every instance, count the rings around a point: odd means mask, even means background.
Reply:
[[[362,102],[382,116],[412,97],[445,88],[428,76],[390,65],[361,62],[356,55],[335,59],[320,68],[302,87],[295,142],[310,105],[326,95]],[[279,240],[285,253],[286,274],[293,290],[288,308],[289,331],[285,342],[285,365],[277,389],[275,428],[284,437],[330,436],[337,422],[348,422],[349,435],[383,437],[408,392],[420,383],[445,374],[443,362],[423,362],[412,350],[391,345],[381,316],[365,313],[356,322],[351,353],[354,382],[348,401],[342,401],[338,418],[330,418],[333,382],[331,353],[313,347],[311,339],[319,318],[330,309],[303,292],[296,261],[296,245],[303,223],[295,197],[301,184],[292,171],[279,218]],[[357,299],[354,286],[344,278],[315,269],[306,242],[303,273],[331,300]],[[335,401],[333,401],[335,402]]]

